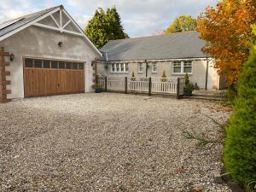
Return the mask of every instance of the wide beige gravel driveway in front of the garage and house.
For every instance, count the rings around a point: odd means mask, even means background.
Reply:
[[[230,191],[216,184],[229,113],[195,102],[115,93],[0,104],[0,191]]]

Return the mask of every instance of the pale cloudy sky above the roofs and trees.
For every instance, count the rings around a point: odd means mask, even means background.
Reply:
[[[166,29],[179,15],[195,18],[218,0],[0,0],[0,22],[63,4],[84,28],[97,8],[116,6],[130,37],[151,35]]]

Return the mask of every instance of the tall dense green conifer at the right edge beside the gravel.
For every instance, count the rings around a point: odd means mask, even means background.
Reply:
[[[253,32],[256,36],[256,26]],[[237,183],[256,182],[256,45],[238,79],[238,96],[230,117],[224,162]]]

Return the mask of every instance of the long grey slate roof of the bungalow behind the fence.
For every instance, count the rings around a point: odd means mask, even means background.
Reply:
[[[162,59],[205,58],[201,48],[205,41],[198,32],[113,40],[101,49],[103,61],[143,61]],[[106,55],[108,56],[106,57]]]

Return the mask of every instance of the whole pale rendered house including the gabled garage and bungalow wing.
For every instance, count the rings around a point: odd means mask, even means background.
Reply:
[[[134,73],[139,81],[160,78],[164,71],[172,79],[188,73],[201,89],[218,90],[217,70],[201,52],[205,42],[198,36],[182,32],[121,39],[100,51],[62,5],[6,21],[0,24],[0,102],[89,92],[96,75],[124,80]],[[146,91],[148,83],[134,85],[129,83],[129,89]],[[152,89],[177,91],[172,85],[153,84]],[[124,86],[120,82],[119,89]]]

